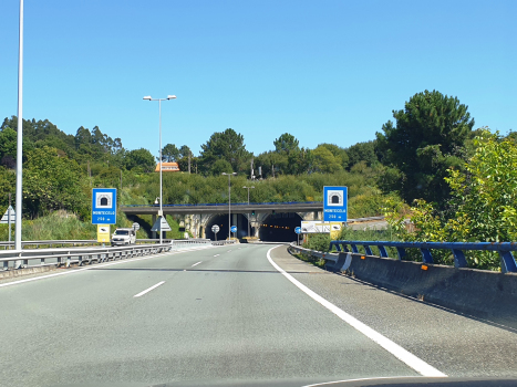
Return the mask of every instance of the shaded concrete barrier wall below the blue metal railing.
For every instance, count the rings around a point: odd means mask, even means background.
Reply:
[[[517,274],[340,253],[332,268],[359,280],[517,330]]]

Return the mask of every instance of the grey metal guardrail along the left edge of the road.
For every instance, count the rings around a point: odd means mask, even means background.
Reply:
[[[0,264],[3,270],[46,265],[70,266],[75,263],[81,265],[91,262],[143,257],[186,249],[193,245],[211,245],[211,242],[206,239],[175,240],[174,243],[132,244],[120,248],[8,250],[0,252]]]

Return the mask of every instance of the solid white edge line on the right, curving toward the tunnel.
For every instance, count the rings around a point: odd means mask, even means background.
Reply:
[[[365,335],[368,338],[372,339],[373,342],[378,343],[380,346],[382,346],[384,349],[386,349],[389,353],[391,353],[393,356],[395,356],[397,359],[401,362],[405,363],[407,366],[416,370],[418,374],[423,376],[428,376],[428,377],[446,377],[444,373],[437,370],[434,368],[432,365],[425,363],[422,360],[420,357],[416,357],[413,355],[411,352],[404,349],[401,347],[399,344],[395,344],[387,337],[384,337],[381,335],[379,332],[372,330],[370,326],[366,324],[360,322],[358,318],[353,317],[352,315],[348,314],[343,310],[339,308],[331,302],[327,301],[323,299],[321,295],[317,294],[306,285],[303,285],[301,282],[296,280],[292,275],[288,274],[282,268],[280,268],[278,264],[276,264],[272,259],[271,259],[271,250],[279,248],[279,245],[276,245],[271,249],[268,250],[267,257],[269,263],[277,269],[285,278],[287,278],[289,281],[291,281],[298,289],[300,289],[303,293],[306,293],[308,296],[310,296],[312,300],[317,301],[324,307],[327,307],[329,311],[331,311],[333,314],[335,314],[338,317],[340,317],[342,321],[344,321],[347,324],[351,325],[359,332],[361,332],[363,335]]]

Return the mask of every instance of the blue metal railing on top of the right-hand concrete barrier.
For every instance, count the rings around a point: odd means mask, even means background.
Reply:
[[[389,242],[389,241],[331,241],[330,250],[333,247],[338,251],[359,253],[358,245],[362,245],[366,255],[373,255],[372,245],[379,248],[381,257],[389,258],[386,248],[395,248],[401,260],[405,255],[405,249],[420,249],[422,261],[424,263],[434,263],[431,250],[451,250],[454,255],[454,265],[456,268],[466,268],[465,250],[496,251],[500,257],[502,272],[517,272],[517,263],[511,251],[517,251],[516,242]]]

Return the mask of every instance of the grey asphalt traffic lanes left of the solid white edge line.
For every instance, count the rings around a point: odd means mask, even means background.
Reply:
[[[418,375],[279,274],[270,248],[130,260],[0,287],[1,384]]]

